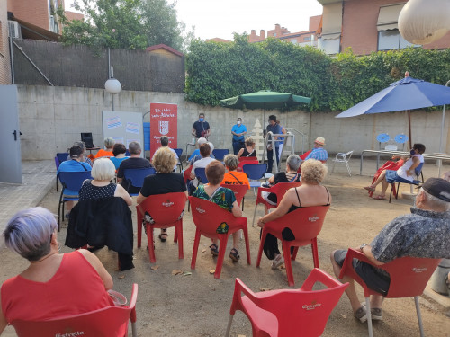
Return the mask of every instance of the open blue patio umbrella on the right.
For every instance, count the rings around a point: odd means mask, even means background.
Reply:
[[[428,108],[430,106],[446,105],[450,103],[450,87],[433,84],[407,75],[400,81],[394,82],[387,88],[373,96],[357,103],[355,106],[336,116],[354,117],[368,113],[408,111],[411,146],[410,110]],[[445,109],[443,114],[445,116]],[[444,134],[444,117],[441,127],[441,144]]]

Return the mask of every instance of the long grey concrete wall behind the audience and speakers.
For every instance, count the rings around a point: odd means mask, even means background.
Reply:
[[[80,132],[92,132],[94,144],[103,144],[102,111],[111,110],[112,95],[102,89],[49,87],[39,85],[18,85],[19,118],[24,160],[51,159],[57,152],[64,152]],[[248,130],[253,129],[259,119],[263,124],[263,111],[240,111],[221,107],[209,107],[184,101],[181,93],[150,93],[122,91],[114,98],[117,111],[149,111],[150,102],[178,104],[178,147],[192,139],[193,121],[200,112],[205,113],[211,124],[211,142],[215,148],[231,150],[230,129],[238,117],[243,118]],[[335,119],[337,113],[291,111],[267,111],[266,118],[275,114],[284,127],[294,128],[308,135],[305,149],[318,136],[325,137],[330,153],[354,150],[356,154],[365,149],[378,149],[376,136],[382,132],[392,138],[399,133],[408,133],[405,112],[380,113],[361,117]],[[414,142],[424,143],[427,152],[438,152],[442,111],[413,111],[412,136]],[[149,121],[149,115],[144,121]],[[450,153],[450,111],[446,117],[446,153]],[[297,137],[296,151],[302,150]]]

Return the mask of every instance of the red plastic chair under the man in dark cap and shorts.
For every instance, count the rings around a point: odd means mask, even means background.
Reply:
[[[342,265],[342,270],[339,274],[339,279],[344,276],[349,276],[355,279],[365,290],[365,306],[367,308],[367,322],[369,329],[369,336],[374,336],[372,330],[372,315],[370,314],[370,296],[381,295],[376,291],[368,288],[365,285],[363,279],[359,277],[356,271],[353,269],[353,259],[358,259],[362,262],[373,265],[376,268],[386,270],[390,277],[391,283],[389,285],[388,294],[386,298],[401,298],[401,297],[414,297],[416,302],[416,311],[418,314],[420,336],[424,336],[422,317],[420,315],[419,296],[422,295],[425,287],[427,286],[428,279],[436,270],[437,265],[441,262],[441,259],[423,259],[414,257],[402,257],[395,259],[392,262],[384,263],[381,266],[375,266],[370,262],[364,253],[357,252],[354,249],[348,249],[346,260]]]

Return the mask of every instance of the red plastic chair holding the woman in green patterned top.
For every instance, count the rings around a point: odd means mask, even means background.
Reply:
[[[214,278],[220,279],[220,272],[222,269],[223,258],[227,250],[227,243],[229,235],[242,229],[246,241],[247,263],[250,261],[250,244],[248,241],[247,217],[234,217],[231,212],[220,208],[215,203],[203,200],[200,198],[189,197],[192,204],[193,223],[197,227],[195,230],[195,240],[193,241],[193,260],[191,262],[191,269],[195,269],[195,262],[197,261],[198,246],[200,244],[200,236],[210,237],[211,239],[219,238],[219,256],[217,258],[216,271]],[[228,233],[218,234],[216,229],[222,224],[226,223],[229,226]]]

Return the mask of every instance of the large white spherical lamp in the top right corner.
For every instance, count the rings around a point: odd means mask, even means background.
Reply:
[[[431,43],[449,30],[449,0],[410,0],[399,15],[399,31],[410,43]]]

